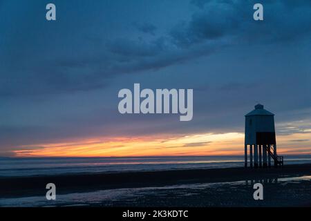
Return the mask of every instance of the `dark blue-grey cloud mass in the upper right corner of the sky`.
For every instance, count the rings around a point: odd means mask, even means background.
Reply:
[[[191,1],[201,10],[191,21],[172,30],[176,44],[198,44],[202,41],[227,38],[236,42],[262,44],[292,41],[311,32],[311,3],[302,1],[263,1],[264,21],[252,19],[255,1]],[[294,7],[292,7],[294,5]],[[234,42],[235,41],[235,42]]]

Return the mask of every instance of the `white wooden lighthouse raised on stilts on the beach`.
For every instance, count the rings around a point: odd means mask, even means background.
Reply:
[[[255,110],[245,115],[245,167],[249,150],[249,166],[252,168],[283,166],[283,156],[276,154],[274,114],[257,104]]]

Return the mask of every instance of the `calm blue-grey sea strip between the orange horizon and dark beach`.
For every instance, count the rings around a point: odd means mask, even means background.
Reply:
[[[285,156],[285,164],[311,163],[311,155]],[[0,176],[209,169],[244,165],[243,156],[0,158]]]

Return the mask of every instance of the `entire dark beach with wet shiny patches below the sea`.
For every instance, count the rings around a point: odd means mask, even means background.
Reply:
[[[54,202],[45,200],[50,182],[57,186]],[[265,200],[252,198],[256,182]],[[310,184],[311,164],[0,177],[0,205],[311,206]]]

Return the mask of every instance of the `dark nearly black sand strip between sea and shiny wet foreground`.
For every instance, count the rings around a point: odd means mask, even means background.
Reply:
[[[180,184],[275,180],[311,175],[311,164],[285,165],[270,169],[193,169],[126,173],[86,173],[34,177],[0,177],[0,198],[23,198],[46,194],[53,182],[57,194],[85,193],[109,189],[157,187]],[[303,186],[301,186],[303,191]]]

